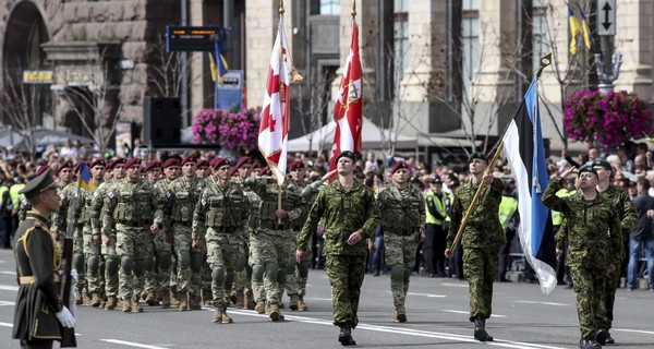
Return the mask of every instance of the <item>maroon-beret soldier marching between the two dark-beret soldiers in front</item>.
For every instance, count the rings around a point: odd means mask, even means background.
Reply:
[[[407,321],[404,300],[409,291],[409,277],[415,265],[415,250],[425,239],[425,205],[419,189],[409,185],[411,173],[404,161],[398,161],[390,169],[392,183],[377,195],[382,225],[386,265],[390,268],[390,291],[395,309],[393,322]]]

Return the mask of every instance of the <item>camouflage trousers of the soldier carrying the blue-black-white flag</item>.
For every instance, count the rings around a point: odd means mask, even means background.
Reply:
[[[493,313],[493,281],[497,276],[498,245],[463,248],[463,276],[470,287],[470,322]]]

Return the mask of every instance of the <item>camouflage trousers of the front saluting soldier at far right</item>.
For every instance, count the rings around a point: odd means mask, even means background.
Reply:
[[[615,273],[615,272],[614,272]],[[577,314],[581,338],[595,338],[604,301],[606,270],[602,268],[570,267],[572,285],[577,293]]]

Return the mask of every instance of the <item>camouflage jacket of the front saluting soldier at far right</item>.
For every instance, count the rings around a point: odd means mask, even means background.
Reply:
[[[543,204],[560,212],[566,229],[556,234],[556,248],[562,250],[568,241],[566,264],[570,267],[606,268],[622,260],[622,232],[616,208],[604,195],[586,201],[581,191],[559,197],[556,192],[566,180],[557,177],[543,193]],[[616,233],[617,232],[617,233]]]

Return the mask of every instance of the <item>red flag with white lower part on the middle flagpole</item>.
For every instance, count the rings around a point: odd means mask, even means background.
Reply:
[[[361,59],[359,57],[359,26],[352,19],[352,41],[350,53],[343,69],[338,97],[334,106],[334,120],[336,131],[334,144],[331,145],[331,157],[329,170],[336,169],[335,158],[343,151],[352,151],[361,154],[361,131],[363,128],[362,117],[362,79]]]

